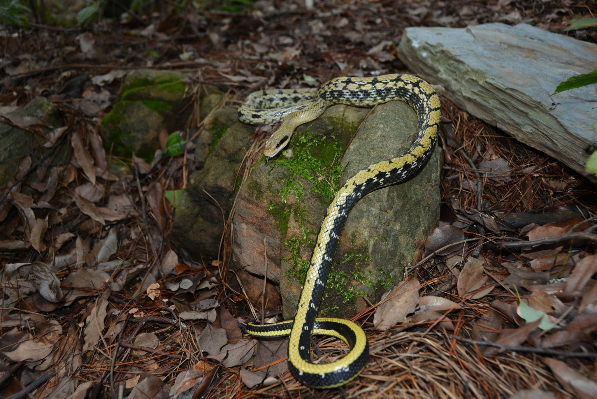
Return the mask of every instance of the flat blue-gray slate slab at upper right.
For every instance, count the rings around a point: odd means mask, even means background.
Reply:
[[[597,146],[597,85],[550,96],[570,76],[597,69],[597,45],[528,24],[489,23],[409,27],[398,54],[461,109],[597,183],[584,170]]]

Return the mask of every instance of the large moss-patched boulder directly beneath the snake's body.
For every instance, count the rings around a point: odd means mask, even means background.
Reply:
[[[235,267],[278,281],[285,318],[296,309],[321,220],[338,187],[361,168],[403,154],[417,130],[413,109],[380,105],[346,149],[369,109],[328,108],[298,128],[294,158],[260,162],[236,199]],[[346,149],[346,151],[345,151]],[[367,195],[356,204],[340,237],[321,303],[325,315],[356,314],[362,295],[371,302],[401,280],[439,218],[441,151],[416,176]]]

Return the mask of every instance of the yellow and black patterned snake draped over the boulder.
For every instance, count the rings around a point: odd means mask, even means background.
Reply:
[[[299,382],[312,388],[344,385],[367,365],[369,343],[361,326],[341,318],[317,317],[319,302],[350,210],[365,194],[412,176],[432,154],[441,118],[439,96],[429,83],[413,75],[341,76],[318,88],[256,91],[238,108],[239,120],[247,124],[282,122],[265,144],[267,162],[288,145],[296,127],[317,118],[328,106],[370,108],[393,100],[406,102],[417,114],[417,132],[410,148],[405,154],[359,170],[338,189],[315,241],[294,320],[247,323],[247,334],[257,339],[290,336],[290,371]],[[336,337],[346,343],[349,352],[331,363],[313,363],[312,335]]]

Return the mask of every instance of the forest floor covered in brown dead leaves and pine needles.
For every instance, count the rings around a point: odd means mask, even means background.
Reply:
[[[330,0],[313,10],[297,1],[211,2],[202,10],[152,4],[82,27],[43,19],[0,27],[1,121],[48,143],[67,132],[72,142],[66,165],[33,152],[20,159],[14,184],[0,193],[2,290],[10,302],[0,323],[0,397],[60,398],[75,389],[81,398],[131,390],[131,397],[500,398],[523,389],[533,391],[517,397],[597,397],[595,186],[450,100],[442,98],[441,221],[405,278],[418,293],[402,295],[402,287],[384,300],[396,308],[416,302],[418,316],[383,332],[373,326],[381,303],[355,317],[370,340],[370,363],[344,388],[325,392],[289,372],[262,383],[285,354],[267,348],[261,363],[245,358],[242,323],[260,303],[231,287],[229,259],[198,264],[174,253],[174,207],[164,192],[185,188],[192,150],[152,165],[128,159],[131,174],[118,178],[107,173],[111,155],[99,133],[122,70],[190,72],[192,93],[216,87],[227,93],[220,106],[238,106],[263,87],[408,72],[395,50],[408,26],[529,23],[561,32],[595,16],[594,2]],[[60,18],[76,19],[76,11]],[[597,42],[595,28],[563,33]],[[36,121],[7,116],[38,96],[66,121],[54,137],[39,133]],[[49,154],[57,147],[48,145]],[[509,167],[492,175],[479,162]],[[111,269],[98,267],[107,263]],[[156,269],[161,274],[146,284]],[[192,290],[170,291],[172,281],[189,281]],[[181,321],[195,308],[204,314]],[[214,332],[204,333],[208,325]],[[218,342],[227,344],[230,366],[199,351]],[[346,353],[334,340],[317,342],[327,360]]]

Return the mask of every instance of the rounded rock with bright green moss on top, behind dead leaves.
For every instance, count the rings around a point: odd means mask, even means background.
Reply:
[[[159,133],[184,127],[179,115],[187,98],[184,79],[190,73],[139,69],[127,74],[119,90],[119,101],[101,122],[101,135],[112,153],[150,158],[159,148]]]

